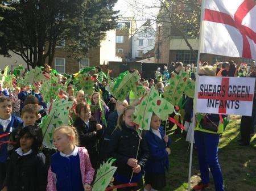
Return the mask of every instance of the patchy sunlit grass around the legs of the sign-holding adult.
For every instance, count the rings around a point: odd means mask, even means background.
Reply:
[[[170,169],[167,186],[162,191],[185,191],[188,187],[189,143],[169,131],[172,138]],[[240,118],[233,116],[220,139],[218,158],[224,177],[225,191],[256,190],[256,136],[251,146],[241,147],[237,139],[240,134]],[[190,148],[190,147],[189,147]],[[192,186],[200,181],[197,152],[193,151]],[[210,174],[210,191],[215,190]]]

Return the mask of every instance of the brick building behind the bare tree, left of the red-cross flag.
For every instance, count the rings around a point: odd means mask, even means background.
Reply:
[[[171,9],[171,8],[170,8]],[[191,7],[185,7],[184,11],[189,14],[189,11],[192,11]],[[167,14],[163,14],[167,15]],[[156,32],[156,61],[159,63],[171,63],[172,61],[181,61],[184,65],[196,63],[197,62],[197,53],[199,50],[199,37],[190,37],[187,36],[188,43],[192,46],[192,49],[195,50],[196,55],[194,55],[189,49],[187,43],[185,42],[183,35],[173,28],[170,25],[168,18],[162,18],[164,20]],[[184,31],[191,30],[189,26],[183,26]],[[159,41],[158,41],[159,39]],[[158,43],[159,42],[159,43]],[[159,47],[159,56],[158,56],[158,47]],[[234,58],[219,56],[214,54],[201,54],[200,61],[207,61],[208,63],[215,62],[224,62],[233,60],[236,63],[245,62],[251,63],[251,60],[245,58]]]

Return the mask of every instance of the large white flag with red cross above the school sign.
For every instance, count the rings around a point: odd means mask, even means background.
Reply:
[[[256,2],[207,0],[201,53],[256,60]]]

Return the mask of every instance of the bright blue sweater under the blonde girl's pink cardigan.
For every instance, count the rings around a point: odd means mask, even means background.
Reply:
[[[56,152],[51,157],[51,171],[56,174],[57,191],[84,191],[78,153],[67,158]]]

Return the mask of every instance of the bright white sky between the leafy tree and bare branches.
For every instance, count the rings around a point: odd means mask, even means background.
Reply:
[[[155,20],[159,2],[160,0],[118,0],[114,10],[119,10],[122,16],[134,16],[137,27],[140,27],[147,19]]]

